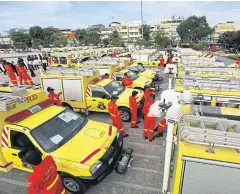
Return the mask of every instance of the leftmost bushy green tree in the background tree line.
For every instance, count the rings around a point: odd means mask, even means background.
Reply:
[[[13,41],[13,45],[17,49],[27,49],[32,46],[32,39],[27,30],[24,29],[11,29],[8,35]]]

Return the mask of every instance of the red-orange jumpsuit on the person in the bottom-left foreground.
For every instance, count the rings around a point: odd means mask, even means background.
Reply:
[[[28,178],[28,194],[67,194],[51,156],[46,156]]]

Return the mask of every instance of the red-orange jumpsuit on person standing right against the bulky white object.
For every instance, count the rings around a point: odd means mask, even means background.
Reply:
[[[145,138],[147,138],[148,137],[148,132],[149,132],[149,140],[151,140],[153,138],[153,131],[152,132],[150,131],[150,120],[148,118],[148,113],[149,113],[150,106],[153,103],[154,103],[154,100],[148,100],[147,102],[145,102],[145,104],[143,106],[143,109],[142,109],[142,112],[144,114],[143,136]],[[154,126],[153,126],[153,130],[154,130]],[[151,137],[151,139],[150,139],[150,137]]]

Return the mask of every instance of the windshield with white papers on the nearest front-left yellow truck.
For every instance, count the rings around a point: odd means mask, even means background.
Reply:
[[[31,135],[42,149],[46,152],[52,152],[69,141],[86,123],[87,119],[66,109],[31,130]]]

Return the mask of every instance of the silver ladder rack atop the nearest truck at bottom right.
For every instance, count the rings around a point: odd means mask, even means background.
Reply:
[[[180,121],[181,141],[240,149],[240,122],[228,119],[185,115]]]

